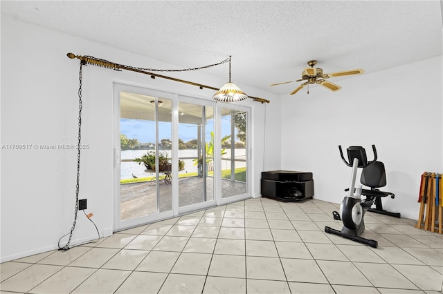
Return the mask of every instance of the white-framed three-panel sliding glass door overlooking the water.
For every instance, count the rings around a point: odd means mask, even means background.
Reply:
[[[114,85],[114,230],[248,197],[249,108]]]

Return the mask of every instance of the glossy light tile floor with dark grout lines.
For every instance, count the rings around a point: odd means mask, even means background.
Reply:
[[[395,201],[395,200],[394,200]],[[248,199],[1,264],[1,293],[440,293],[443,236],[365,215],[370,248],[329,235],[338,204]]]

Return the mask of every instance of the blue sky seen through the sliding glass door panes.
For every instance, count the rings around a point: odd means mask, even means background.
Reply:
[[[213,130],[213,121],[208,121],[206,126],[208,135],[206,140],[210,140],[210,130]],[[138,139],[140,143],[155,142],[155,122],[141,119],[120,119],[120,133],[129,139]],[[221,135],[230,135],[230,120],[221,120]],[[237,131],[235,131],[237,135]],[[172,139],[172,123],[159,122],[159,141],[161,139]],[[197,126],[195,124],[179,124],[179,139],[188,142],[197,139]],[[237,141],[237,138],[235,138]]]

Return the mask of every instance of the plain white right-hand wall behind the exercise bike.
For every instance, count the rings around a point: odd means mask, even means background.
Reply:
[[[331,80],[332,81],[332,80]],[[386,210],[417,219],[420,176],[442,173],[442,56],[317,86],[282,99],[282,168],[314,173],[314,198],[340,203],[349,186],[338,145],[375,144],[395,199]]]

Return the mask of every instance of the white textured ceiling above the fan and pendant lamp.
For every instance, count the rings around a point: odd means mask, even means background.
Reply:
[[[370,73],[442,55],[440,1],[1,1],[1,14],[183,68],[232,55],[233,82],[276,94],[310,59]],[[228,79],[226,64],[205,71]]]

